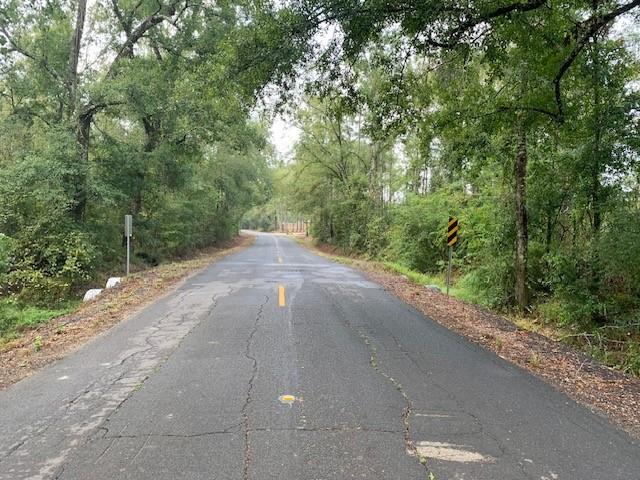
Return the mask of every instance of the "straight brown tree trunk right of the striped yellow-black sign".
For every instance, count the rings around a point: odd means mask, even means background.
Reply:
[[[527,250],[529,244],[526,180],[527,180],[527,134],[525,126],[520,126],[518,133],[518,150],[516,153],[516,304],[524,310],[529,304],[527,289]]]

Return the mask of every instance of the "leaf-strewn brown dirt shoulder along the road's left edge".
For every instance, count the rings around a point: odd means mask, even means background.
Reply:
[[[128,318],[211,262],[248,247],[255,237],[241,235],[195,257],[134,273],[75,312],[24,333],[0,349],[0,389],[64,357],[97,334]]]

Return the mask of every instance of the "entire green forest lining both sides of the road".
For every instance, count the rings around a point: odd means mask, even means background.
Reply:
[[[304,218],[433,282],[453,215],[456,294],[640,373],[638,7],[0,0],[0,334],[121,269],[125,214],[141,264]]]

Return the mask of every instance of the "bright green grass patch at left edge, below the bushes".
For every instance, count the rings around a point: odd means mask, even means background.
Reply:
[[[72,312],[79,303],[70,301],[55,308],[40,308],[22,305],[12,298],[0,300],[0,345],[13,340],[20,332]]]

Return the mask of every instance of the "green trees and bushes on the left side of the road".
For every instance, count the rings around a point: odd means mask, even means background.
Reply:
[[[269,187],[266,131],[249,111],[280,67],[237,58],[257,10],[97,3],[78,52],[82,5],[1,12],[0,295],[24,304],[55,306],[117,273],[125,214],[137,258],[155,262],[233,235]],[[108,60],[83,62],[94,33]]]

